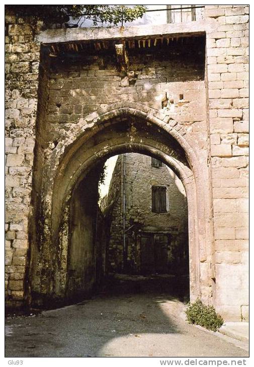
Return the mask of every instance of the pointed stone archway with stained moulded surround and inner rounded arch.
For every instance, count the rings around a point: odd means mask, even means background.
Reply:
[[[212,253],[212,248],[206,231],[209,210],[199,159],[182,126],[156,110],[133,103],[113,104],[80,120],[49,153],[44,167],[47,180],[42,184],[40,251],[32,255],[31,267],[31,273],[40,274],[40,286],[35,285],[36,277],[30,273],[32,297],[41,299],[44,294],[46,299],[66,298],[69,208],[73,192],[95,164],[132,151],[158,157],[181,178],[188,200],[190,296],[191,300],[205,297],[200,264],[211,261],[207,249]],[[210,287],[209,277],[205,283]]]

